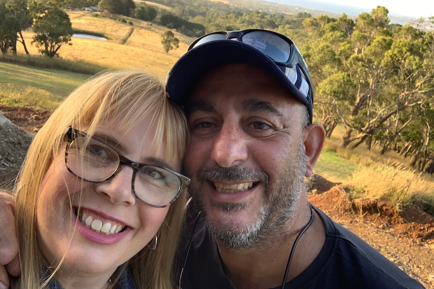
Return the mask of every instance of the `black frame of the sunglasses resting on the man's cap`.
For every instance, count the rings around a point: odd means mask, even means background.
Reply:
[[[297,48],[297,45],[294,43],[294,41],[292,41],[290,38],[288,38],[288,37],[286,37],[280,33],[277,33],[274,31],[269,31],[269,30],[264,30],[264,29],[246,29],[246,30],[237,30],[237,31],[216,31],[216,32],[202,35],[199,38],[197,38],[196,40],[194,40],[190,44],[190,46],[188,47],[187,51],[196,47],[197,43],[199,41],[201,41],[203,38],[210,36],[210,35],[213,35],[213,34],[226,35],[226,39],[237,39],[238,41],[243,42],[243,40],[242,40],[243,36],[248,34],[248,33],[251,33],[251,32],[263,32],[263,33],[273,34],[273,35],[281,38],[283,41],[285,41],[290,46],[291,51],[289,53],[288,59],[285,62],[274,61],[274,59],[272,59],[270,56],[268,56],[268,55],[267,56],[270,57],[270,59],[276,65],[279,65],[279,66],[293,68],[296,64],[298,64],[300,69],[302,70],[303,74],[306,77],[306,80],[307,80],[307,82],[308,82],[308,84],[312,90],[312,95],[313,95],[313,81],[312,81],[312,77],[311,77],[311,74],[309,72],[309,68],[306,64],[305,59],[303,58],[302,54],[300,53],[300,50]],[[223,40],[223,39],[220,39],[220,40]],[[219,41],[219,40],[214,39],[214,40],[209,40],[207,42],[212,42],[212,41]],[[207,42],[203,42],[203,43],[207,43]],[[203,43],[200,43],[200,45]],[[197,46],[200,46],[200,45],[197,45]],[[312,103],[313,103],[313,96],[312,96]]]

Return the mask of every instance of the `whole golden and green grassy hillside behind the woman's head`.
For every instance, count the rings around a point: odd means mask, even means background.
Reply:
[[[86,11],[67,13],[73,29],[103,35],[108,39],[105,41],[73,37],[70,45],[63,45],[59,50],[60,58],[68,62],[66,65],[76,66],[78,70],[80,66],[95,67],[89,69],[91,74],[104,69],[140,69],[164,81],[169,69],[193,41],[192,38],[173,31],[180,40],[179,48],[166,53],[161,44],[161,35],[167,30],[165,27],[124,17],[127,22],[133,23],[131,26]],[[23,36],[32,57],[28,58],[23,46],[19,44],[18,58],[21,58],[19,62],[24,63],[23,65],[0,62],[0,103],[32,106],[38,103],[40,106],[53,108],[90,77],[90,74],[38,68],[41,61],[47,62],[50,67],[51,62],[56,62],[56,59],[44,60],[44,57],[38,56],[36,46],[31,44],[31,29],[24,31]],[[33,62],[39,64],[26,65]]]

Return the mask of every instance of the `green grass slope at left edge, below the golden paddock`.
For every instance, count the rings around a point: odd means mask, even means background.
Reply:
[[[88,74],[0,62],[0,103],[56,108]]]

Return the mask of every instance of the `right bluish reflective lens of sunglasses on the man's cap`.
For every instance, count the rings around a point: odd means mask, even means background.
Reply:
[[[286,62],[291,54],[291,45],[286,40],[266,31],[246,33],[241,41],[257,48],[275,62]]]

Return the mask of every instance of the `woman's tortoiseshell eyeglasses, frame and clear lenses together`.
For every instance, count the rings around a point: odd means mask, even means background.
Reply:
[[[134,169],[131,190],[135,198],[156,208],[164,208],[178,198],[190,179],[174,170],[131,161],[115,148],[96,137],[69,128],[65,163],[68,171],[90,182],[100,183],[113,178],[123,165]]]

